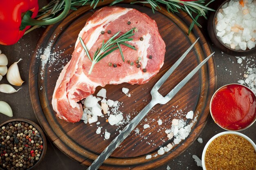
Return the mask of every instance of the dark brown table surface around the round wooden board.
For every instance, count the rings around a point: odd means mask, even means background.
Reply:
[[[211,4],[210,7],[216,9],[216,6],[220,3],[220,0],[216,0]],[[40,5],[46,4],[47,0],[40,1]],[[201,19],[200,23],[202,24],[201,31],[204,33],[205,38],[208,40],[211,45],[212,51],[215,51],[214,59],[216,62],[216,73],[217,73],[217,88],[230,83],[237,83],[238,79],[242,79],[240,73],[245,72],[244,66],[246,61],[243,60],[243,66],[237,63],[237,59],[234,56],[222,54],[220,50],[216,49],[209,40],[207,34],[207,20]],[[40,38],[41,33],[44,29],[39,28],[31,33],[22,37],[22,39],[11,46],[2,46],[0,45],[0,50],[2,53],[6,54],[9,60],[8,66],[13,62],[18,61],[20,58],[23,60],[18,64],[20,68],[20,75],[25,81],[22,84],[22,89],[18,93],[13,94],[4,94],[0,93],[0,100],[5,101],[10,104],[13,110],[13,117],[7,117],[0,114],[0,124],[4,121],[14,118],[25,118],[30,119],[38,124],[36,116],[34,114],[33,108],[31,106],[31,100],[29,97],[29,65],[30,58],[32,56],[33,50],[35,49],[36,42]],[[246,56],[254,58],[256,61],[256,54],[252,56]],[[234,62],[234,63],[232,63]],[[230,72],[231,71],[231,72]],[[8,83],[6,77],[0,82]],[[241,133],[247,135],[254,142],[256,142],[256,123],[250,128],[241,131]],[[174,160],[168,161],[165,165],[155,168],[155,170],[166,170],[167,165],[171,167],[171,170],[202,170],[201,167],[198,167],[192,158],[192,155],[197,155],[201,158],[202,151],[204,149],[207,141],[216,135],[219,132],[223,132],[217,124],[213,122],[211,117],[209,117],[204,130],[200,134],[200,137],[203,139],[203,143],[200,144],[198,141],[191,141],[193,144],[189,149],[185,150],[181,155]],[[43,161],[36,167],[36,170],[85,170],[86,167],[80,165],[78,162],[67,157],[63,152],[58,150],[49,140],[47,141],[47,152]]]

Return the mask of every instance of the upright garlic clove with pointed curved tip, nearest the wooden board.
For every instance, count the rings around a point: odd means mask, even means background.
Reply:
[[[18,62],[20,62],[20,60]],[[14,86],[21,86],[22,83],[24,83],[24,81],[20,78],[18,62],[11,64],[6,75],[8,82]]]

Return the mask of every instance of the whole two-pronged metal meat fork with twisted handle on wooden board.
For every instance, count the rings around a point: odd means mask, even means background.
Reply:
[[[199,39],[199,38],[198,38]],[[186,57],[189,51],[193,48],[198,39],[189,47],[189,49],[180,57],[173,66],[158,80],[155,86],[151,90],[152,100],[150,103],[141,110],[141,112],[134,118],[130,123],[122,130],[122,132],[109,144],[109,146],[103,150],[101,155],[92,163],[92,165],[87,170],[97,170],[101,164],[112,154],[112,152],[128,137],[132,130],[139,124],[139,122],[147,115],[147,113],[156,104],[166,104],[169,102],[180,89],[193,77],[193,75],[204,65],[209,58],[214,54],[209,55],[204,61],[202,61],[191,73],[189,73],[175,88],[173,88],[165,97],[163,97],[159,92],[159,88],[164,84],[168,77],[173,73],[173,71],[179,66],[182,60]]]

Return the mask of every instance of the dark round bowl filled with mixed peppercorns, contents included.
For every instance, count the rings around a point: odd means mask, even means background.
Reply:
[[[6,121],[0,125],[0,137],[0,170],[31,170],[45,155],[45,135],[33,121]]]

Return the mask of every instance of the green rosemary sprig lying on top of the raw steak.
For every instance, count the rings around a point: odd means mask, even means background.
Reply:
[[[92,69],[95,64],[97,64],[101,59],[103,59],[104,57],[106,57],[107,55],[109,55],[110,53],[112,53],[117,49],[119,49],[122,60],[124,61],[124,54],[122,52],[120,44],[125,45],[133,50],[136,50],[134,46],[126,43],[127,41],[133,40],[133,38],[130,38],[130,37],[134,35],[134,33],[132,33],[134,29],[135,28],[130,29],[130,31],[127,31],[126,33],[121,35],[119,38],[116,38],[116,37],[119,35],[119,33],[121,33],[121,31],[118,31],[117,33],[115,33],[115,35],[113,35],[110,39],[108,39],[108,41],[104,42],[103,40],[101,47],[95,51],[93,57],[90,56],[89,51],[83,42],[83,39],[79,37],[79,40],[83,46],[83,49],[85,50],[87,57],[92,62],[92,66],[88,74],[90,75],[92,73]]]

